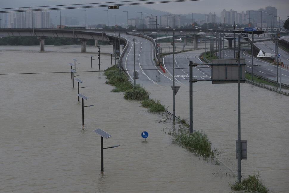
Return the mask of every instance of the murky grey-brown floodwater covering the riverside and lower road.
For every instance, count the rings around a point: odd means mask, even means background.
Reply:
[[[123,93],[110,92],[98,70],[97,48],[80,46],[0,46],[0,192],[235,192],[237,180],[237,84],[193,84],[194,129],[208,134],[220,165],[195,157],[168,135],[178,128],[164,113],[152,114]],[[101,46],[100,70],[111,66],[112,46]],[[74,73],[83,81],[77,101]],[[114,62],[113,62],[114,63]],[[51,73],[53,72],[53,73]],[[55,72],[55,73],[54,73]],[[137,82],[150,98],[172,112],[171,82]],[[189,119],[189,82],[175,96],[175,113]],[[289,177],[288,97],[241,84],[241,139],[248,143],[242,176],[259,173],[274,192],[287,192]],[[104,172],[100,171],[101,128]],[[149,133],[146,141],[141,133]]]

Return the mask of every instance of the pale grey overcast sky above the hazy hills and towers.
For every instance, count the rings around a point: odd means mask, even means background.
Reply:
[[[43,5],[44,2],[59,5],[115,1],[117,0],[2,0],[0,6],[1,8],[7,8],[10,7],[11,4],[13,7],[18,7],[23,6],[23,4],[25,4],[25,6],[38,6]],[[220,16],[220,12],[223,11],[223,9],[227,11],[232,9],[240,13],[246,10],[265,9],[265,7],[271,6],[276,7],[280,19],[287,19],[287,16],[289,16],[289,0],[201,0],[179,3],[148,4],[143,6],[175,14],[188,14],[190,12],[208,14],[210,12],[215,12],[217,16]]]

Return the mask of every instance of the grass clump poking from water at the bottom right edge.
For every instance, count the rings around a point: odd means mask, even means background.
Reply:
[[[230,184],[231,189],[235,190],[245,190],[246,192],[260,192],[260,193],[268,193],[269,190],[266,186],[262,184],[262,180],[260,181],[260,174],[258,171],[257,175],[249,175],[247,178],[244,178],[243,181],[237,182],[234,184]]]

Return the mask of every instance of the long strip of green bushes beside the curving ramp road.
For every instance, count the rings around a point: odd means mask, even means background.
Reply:
[[[108,79],[105,83],[114,86],[112,92],[124,92],[125,99],[142,101],[142,106],[148,108],[150,112],[164,112],[166,110],[160,100],[150,99],[150,93],[140,84],[133,87],[128,76],[123,71],[119,72],[119,68],[109,67],[103,75]]]

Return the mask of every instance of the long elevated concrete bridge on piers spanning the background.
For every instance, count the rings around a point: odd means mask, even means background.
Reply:
[[[125,38],[122,38],[119,33],[123,34],[133,29],[86,29],[86,30],[77,30],[77,29],[0,29],[0,36],[35,36],[39,39],[40,51],[44,51],[44,42],[47,37],[63,37],[63,38],[77,38],[81,42],[81,52],[86,52],[86,42],[89,40],[95,40],[95,45],[98,45],[98,41],[109,41],[111,45],[114,46],[114,50],[119,49],[119,44],[127,44]],[[158,32],[154,35],[152,32]],[[253,31],[253,34],[262,34],[264,31]],[[229,41],[229,47],[232,47],[232,41],[234,40],[234,33],[252,33],[244,30],[233,30],[233,29],[189,29],[189,28],[146,28],[146,29],[137,29],[136,35],[144,34],[151,36],[155,39],[158,38],[158,35],[161,37],[172,36],[175,33],[175,36],[184,37],[184,45],[187,45],[188,38],[194,38],[194,48],[198,48],[198,39],[204,36],[211,36],[212,33],[225,33],[227,34],[225,38]],[[228,35],[229,34],[229,35]],[[215,38],[217,38],[215,36]],[[120,41],[115,41],[115,39],[120,39]],[[116,49],[115,49],[116,47]]]

